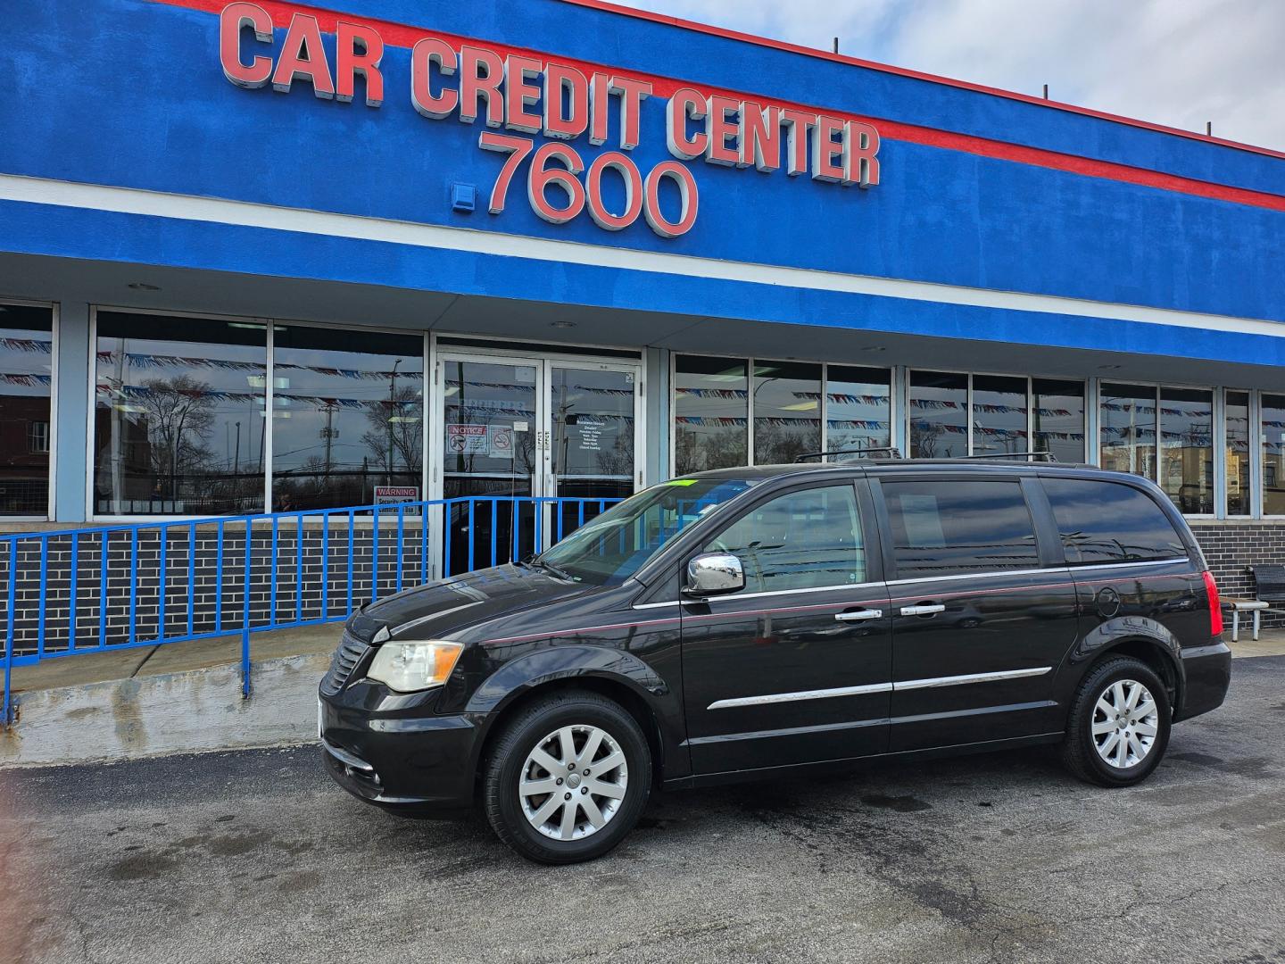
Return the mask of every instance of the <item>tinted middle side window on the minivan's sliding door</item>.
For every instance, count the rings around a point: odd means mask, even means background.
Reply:
[[[1040,566],[1018,482],[883,482],[901,578]]]

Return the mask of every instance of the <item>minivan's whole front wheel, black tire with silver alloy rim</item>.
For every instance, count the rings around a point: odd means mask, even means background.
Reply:
[[[518,853],[577,864],[625,839],[650,787],[651,752],[634,717],[596,693],[558,693],[505,724],[482,799],[491,828]]]

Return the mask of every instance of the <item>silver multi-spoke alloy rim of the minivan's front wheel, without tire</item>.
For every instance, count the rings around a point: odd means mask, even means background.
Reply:
[[[600,726],[563,726],[527,754],[518,798],[545,837],[580,841],[612,821],[628,787],[625,752]]]

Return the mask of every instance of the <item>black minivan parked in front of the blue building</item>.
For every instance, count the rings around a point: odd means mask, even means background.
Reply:
[[[653,788],[1038,743],[1127,787],[1230,671],[1200,549],[1136,476],[757,467],[366,607],[320,735],[357,797],[481,802],[518,852],[565,864],[619,843]]]

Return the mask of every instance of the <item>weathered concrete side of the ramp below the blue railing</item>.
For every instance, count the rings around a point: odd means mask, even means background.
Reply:
[[[253,663],[251,699],[235,663],[22,693],[18,724],[0,730],[0,769],[308,743],[329,663],[320,653]]]

